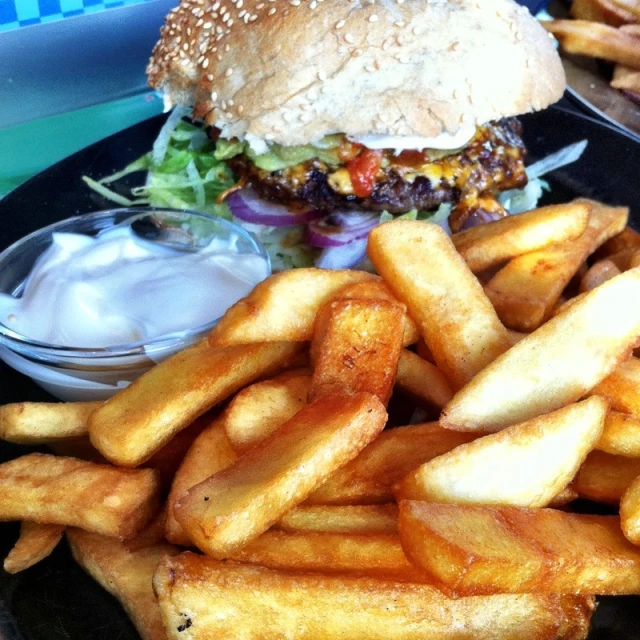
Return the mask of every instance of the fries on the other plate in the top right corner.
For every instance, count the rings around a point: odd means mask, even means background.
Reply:
[[[611,86],[640,102],[640,0],[572,0],[571,16],[542,24],[567,53],[612,62]]]

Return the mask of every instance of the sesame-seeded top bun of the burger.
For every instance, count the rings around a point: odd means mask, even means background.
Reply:
[[[226,138],[434,137],[543,109],[565,78],[512,0],[182,0],[147,69]]]

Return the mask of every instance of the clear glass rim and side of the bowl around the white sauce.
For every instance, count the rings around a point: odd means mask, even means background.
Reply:
[[[271,260],[264,245],[257,240],[246,229],[236,224],[231,220],[225,220],[220,216],[209,215],[192,209],[173,209],[171,207],[118,207],[114,209],[104,209],[101,211],[92,211],[89,213],[79,214],[65,218],[64,220],[58,220],[50,225],[36,229],[26,236],[16,240],[16,242],[9,245],[6,249],[0,252],[0,268],[3,261],[7,260],[9,256],[15,253],[15,251],[24,247],[25,244],[35,240],[43,235],[55,233],[61,227],[69,225],[74,222],[99,220],[101,218],[115,216],[117,214],[124,214],[131,212],[131,219],[141,217],[149,213],[171,213],[180,216],[196,216],[202,220],[212,221],[220,224],[222,227],[226,227],[228,230],[238,233],[245,240],[247,240],[254,250],[255,255],[259,255],[265,259],[267,263],[267,277],[272,273]],[[124,222],[124,220],[123,220]],[[121,224],[121,223],[119,223]],[[114,225],[115,226],[115,225]],[[139,356],[144,354],[153,354],[165,349],[175,347],[176,344],[184,342],[186,345],[192,344],[199,335],[211,330],[220,320],[222,316],[217,317],[203,325],[194,327],[191,329],[185,329],[181,331],[175,331],[157,338],[149,340],[141,340],[138,342],[132,342],[129,344],[113,345],[109,347],[67,347],[64,345],[50,344],[28,338],[22,334],[14,331],[10,327],[0,322],[0,345],[15,351],[16,353],[28,358],[37,359],[46,362],[52,362],[52,359],[65,360],[67,362],[73,360],[109,360],[111,358],[123,358],[127,356]]]

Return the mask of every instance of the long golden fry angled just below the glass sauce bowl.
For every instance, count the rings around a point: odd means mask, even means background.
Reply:
[[[185,349],[143,374],[89,416],[93,445],[107,460],[135,467],[176,433],[243,386],[282,366],[295,342]]]

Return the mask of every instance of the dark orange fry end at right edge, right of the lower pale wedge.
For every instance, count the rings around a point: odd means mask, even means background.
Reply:
[[[640,458],[592,451],[578,471],[572,487],[581,498],[617,505],[640,475]]]

